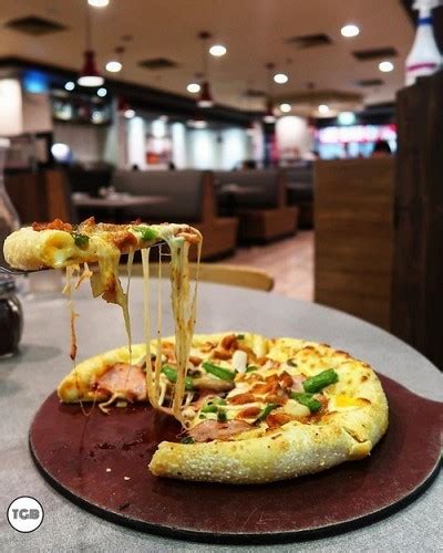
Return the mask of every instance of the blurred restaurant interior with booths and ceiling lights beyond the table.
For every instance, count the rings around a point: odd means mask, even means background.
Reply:
[[[442,73],[405,86],[416,4],[3,0],[10,218],[193,223],[205,262],[442,366]]]

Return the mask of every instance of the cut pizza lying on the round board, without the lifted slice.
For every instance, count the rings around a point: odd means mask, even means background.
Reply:
[[[148,363],[146,364],[146,359]],[[173,414],[175,338],[97,355],[58,388],[62,401],[145,401]],[[181,404],[183,432],[150,463],[158,477],[265,483],[364,458],[388,428],[388,403],[372,368],[329,345],[258,334],[194,335]]]

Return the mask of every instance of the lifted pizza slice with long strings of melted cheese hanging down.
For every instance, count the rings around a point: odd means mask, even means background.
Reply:
[[[145,355],[151,358],[151,313],[150,313],[150,249],[156,244],[166,244],[171,259],[172,311],[175,323],[175,355],[177,359],[177,382],[173,414],[181,419],[182,400],[185,394],[186,363],[189,355],[190,340],[196,319],[197,280],[194,292],[189,290],[188,252],[196,244],[197,267],[202,251],[202,234],[188,225],[162,223],[146,225],[135,221],[130,225],[96,223],[92,217],[73,226],[55,219],[50,223],[34,222],[10,234],[3,244],[6,261],[14,269],[33,271],[40,269],[65,269],[71,314],[70,355],[75,363],[78,346],[72,291],[82,281],[90,279],[94,298],[102,296],[109,303],[122,306],[127,334],[127,351],[132,359],[131,316],[128,311],[128,291],[131,268],[134,252],[141,250],[144,279],[144,330]],[[121,255],[127,253],[128,283],[126,292],[119,278]],[[162,276],[162,252],[159,253],[158,276]],[[89,263],[97,263],[97,270],[91,271]],[[83,270],[82,270],[83,267]],[[78,275],[76,283],[73,278]],[[198,271],[197,271],[198,276]],[[158,286],[159,293],[161,286]],[[162,301],[158,296],[157,343],[162,338]],[[78,368],[74,365],[74,373]],[[157,406],[159,395],[159,363],[154,375],[146,372],[146,389],[150,401]]]

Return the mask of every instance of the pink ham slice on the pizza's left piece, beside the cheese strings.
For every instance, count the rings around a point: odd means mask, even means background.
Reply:
[[[121,393],[130,401],[143,401],[147,396],[145,373],[141,367],[127,363],[116,363],[110,367],[97,379],[96,387],[110,395]]]

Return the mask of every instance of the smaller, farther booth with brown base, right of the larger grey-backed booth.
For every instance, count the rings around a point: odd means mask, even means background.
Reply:
[[[298,208],[287,206],[284,171],[216,171],[215,181],[219,198],[231,195],[241,240],[266,242],[297,231]],[[236,185],[236,190],[228,185]]]

